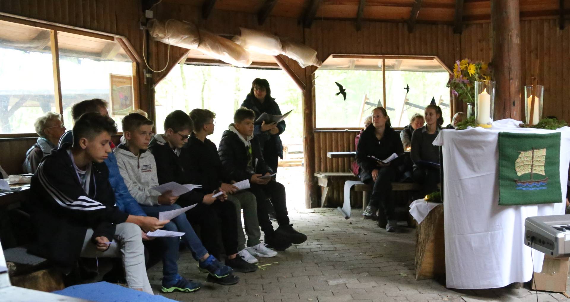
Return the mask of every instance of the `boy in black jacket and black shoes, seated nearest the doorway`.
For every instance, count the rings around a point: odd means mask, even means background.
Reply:
[[[248,189],[257,199],[257,217],[261,230],[265,234],[265,242],[276,250],[285,250],[291,243],[299,244],[307,240],[307,236],[295,231],[289,224],[285,187],[273,180],[273,170],[267,166],[253,136],[255,113],[251,109],[239,108],[234,114],[234,123],[222,134],[218,154],[231,179],[242,181],[249,179]],[[273,230],[269,220],[270,201],[275,208],[279,227]]]

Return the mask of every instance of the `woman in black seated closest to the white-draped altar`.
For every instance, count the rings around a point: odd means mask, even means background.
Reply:
[[[433,145],[443,124],[441,108],[429,105],[425,109],[426,125],[412,134],[414,181],[424,186],[422,196],[437,190],[439,183],[439,147]]]

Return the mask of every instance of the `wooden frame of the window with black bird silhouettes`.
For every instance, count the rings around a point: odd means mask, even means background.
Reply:
[[[453,72],[450,70],[449,67],[447,67],[443,61],[441,59],[439,59],[438,56],[436,55],[359,55],[359,54],[331,54],[328,56],[328,59],[377,59],[377,60],[382,60],[382,93],[383,93],[383,99],[382,99],[382,104],[384,104],[384,108],[386,108],[386,59],[402,59],[402,60],[425,60],[425,59],[433,59],[435,60],[437,63],[439,63],[439,65],[441,65],[441,67],[443,67],[447,73],[449,73],[450,75],[453,74]],[[323,62],[326,62],[326,60],[324,60]],[[318,68],[317,68],[318,70]],[[316,71],[316,70],[315,70]],[[311,74],[311,80],[313,83],[315,83],[315,72],[313,72]],[[317,128],[317,109],[316,108],[316,85],[312,85],[312,106],[313,106],[313,130],[314,132],[330,132],[330,131],[352,131],[352,130],[362,130],[362,127],[320,127]],[[450,98],[451,98],[451,89],[449,89],[449,93],[450,93]],[[453,101],[450,101],[450,118],[453,116]],[[401,130],[404,129],[404,127],[392,127],[396,130]]]

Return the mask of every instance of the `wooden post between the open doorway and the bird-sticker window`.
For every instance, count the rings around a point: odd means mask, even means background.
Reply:
[[[305,70],[306,89],[303,91],[303,154],[305,166],[305,206],[312,209],[319,206],[319,199],[315,179],[315,75],[314,68],[307,67]]]

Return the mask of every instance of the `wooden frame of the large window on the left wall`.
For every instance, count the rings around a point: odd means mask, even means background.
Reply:
[[[133,106],[135,109],[140,108],[140,91],[139,87],[139,63],[143,62],[142,58],[137,53],[135,47],[129,42],[127,37],[122,35],[111,34],[108,32],[101,32],[95,30],[88,30],[86,28],[79,28],[74,26],[66,26],[59,23],[40,21],[32,18],[25,18],[20,16],[15,16],[11,14],[6,14],[0,12],[0,21],[17,23],[20,25],[32,26],[36,28],[41,28],[43,30],[50,31],[50,46],[51,46],[51,56],[52,56],[52,71],[54,72],[54,96],[55,96],[55,109],[57,113],[62,115],[63,120],[63,99],[61,91],[61,79],[59,70],[59,45],[58,45],[58,32],[68,32],[70,34],[89,36],[91,38],[103,39],[108,41],[114,41],[118,43],[121,48],[125,51],[129,59],[132,61],[133,68]],[[65,121],[64,121],[65,123]],[[122,132],[117,132],[117,134],[122,134]],[[2,138],[30,138],[38,137],[37,133],[0,133],[0,139]]]

